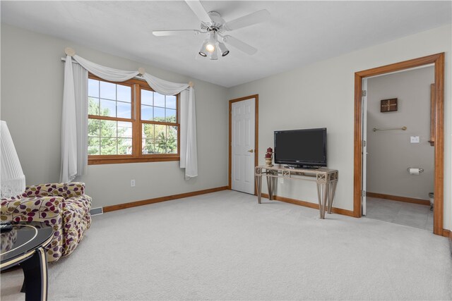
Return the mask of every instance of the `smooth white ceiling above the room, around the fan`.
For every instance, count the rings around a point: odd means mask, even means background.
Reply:
[[[232,87],[451,23],[451,1],[201,1],[226,21],[266,8],[270,19],[230,32],[258,49],[195,59],[205,37],[184,1],[1,1],[1,22]],[[77,49],[76,49],[77,50]],[[378,55],[378,54],[376,54]],[[89,59],[89,58],[87,58]]]

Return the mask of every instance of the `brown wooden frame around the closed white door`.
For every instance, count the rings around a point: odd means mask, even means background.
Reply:
[[[229,171],[228,171],[228,177],[227,177],[227,189],[232,189],[232,180],[231,180],[231,173],[232,173],[232,104],[234,102],[243,102],[244,100],[248,100],[254,98],[254,115],[256,118],[254,118],[254,166],[258,165],[258,145],[259,145],[259,94],[253,94],[246,97],[240,97],[236,99],[230,99],[229,101]],[[257,195],[256,192],[256,183],[254,183],[254,195]]]

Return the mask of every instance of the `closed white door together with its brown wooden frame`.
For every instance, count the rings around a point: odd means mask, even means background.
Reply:
[[[229,101],[228,188],[256,195],[258,164],[258,94]]]

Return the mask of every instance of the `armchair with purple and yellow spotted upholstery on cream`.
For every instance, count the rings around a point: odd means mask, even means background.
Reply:
[[[17,197],[1,200],[1,221],[41,221],[53,228],[47,261],[57,261],[76,249],[91,224],[91,197],[85,183],[52,183],[25,188]]]

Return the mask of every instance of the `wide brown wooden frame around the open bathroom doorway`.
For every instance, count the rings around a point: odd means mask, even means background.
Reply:
[[[418,59],[402,61],[355,73],[355,149],[353,180],[353,215],[361,217],[362,204],[362,79],[384,73],[434,64],[436,85],[436,110],[434,111],[434,224],[433,233],[446,235],[444,231],[444,52]]]

